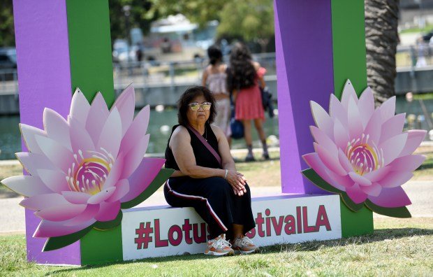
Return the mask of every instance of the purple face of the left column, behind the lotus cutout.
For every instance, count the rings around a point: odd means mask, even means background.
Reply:
[[[13,0],[21,122],[43,129],[43,110],[64,117],[71,104],[68,25],[65,0]],[[27,151],[22,143],[23,151]],[[40,220],[26,210],[27,259],[80,264],[80,243],[42,253],[45,239],[33,238]]]

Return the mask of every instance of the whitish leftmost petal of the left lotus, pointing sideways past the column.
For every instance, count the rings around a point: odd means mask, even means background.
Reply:
[[[3,185],[10,190],[17,192],[25,197],[33,197],[38,194],[52,193],[42,180],[37,176],[12,176],[1,180]]]

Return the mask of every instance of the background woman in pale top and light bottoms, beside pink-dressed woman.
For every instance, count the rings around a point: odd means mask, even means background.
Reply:
[[[207,87],[217,100],[217,116],[214,124],[220,127],[230,145],[230,96],[227,91],[227,65],[223,63],[223,53],[217,45],[207,49],[209,65],[203,71],[202,85]]]

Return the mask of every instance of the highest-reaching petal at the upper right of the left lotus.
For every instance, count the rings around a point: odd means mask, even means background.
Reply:
[[[132,120],[134,118],[135,92],[132,84],[126,87],[119,97],[117,97],[112,108],[114,107],[116,107],[117,111],[119,111],[120,118],[122,120],[122,136],[124,136],[129,126],[131,126]]]

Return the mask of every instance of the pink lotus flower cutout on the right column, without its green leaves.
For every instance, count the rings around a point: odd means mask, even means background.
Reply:
[[[404,114],[395,115],[395,97],[375,109],[370,87],[358,99],[347,80],[341,102],[331,94],[329,114],[314,101],[311,112],[316,152],[302,157],[318,176],[355,204],[367,199],[383,208],[411,204],[401,185],[425,159],[412,153],[426,131],[402,132]]]

